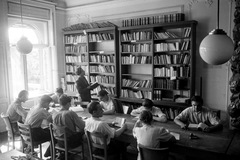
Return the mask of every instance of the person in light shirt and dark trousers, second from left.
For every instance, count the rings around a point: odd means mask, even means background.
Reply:
[[[39,104],[31,108],[28,112],[27,118],[24,124],[30,125],[32,128],[33,141],[50,141],[50,131],[48,128],[43,129],[41,127],[43,120],[52,122],[52,115],[48,113],[49,104],[52,98],[48,95],[43,95]],[[51,155],[50,147],[48,147],[44,156],[49,157]]]

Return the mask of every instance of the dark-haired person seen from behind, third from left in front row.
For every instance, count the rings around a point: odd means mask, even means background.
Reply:
[[[81,117],[69,110],[71,107],[71,98],[63,95],[59,99],[61,110],[53,114],[53,124],[56,126],[66,126],[68,128],[68,145],[75,148],[82,143],[82,136],[84,135],[85,122]],[[62,137],[63,131],[55,130],[55,136]],[[58,141],[60,147],[64,147],[63,141]]]

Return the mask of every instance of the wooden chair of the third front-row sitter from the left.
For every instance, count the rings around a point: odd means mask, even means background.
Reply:
[[[69,158],[69,155],[68,153],[71,153],[71,154],[82,154],[82,159],[84,159],[84,146],[83,144],[76,147],[76,148],[70,148],[69,145],[68,145],[68,138],[67,138],[67,127],[65,126],[56,126],[56,125],[53,125],[52,123],[49,124],[49,128],[50,128],[50,135],[51,135],[51,149],[52,149],[52,156],[51,156],[51,159],[52,160],[55,160],[56,159],[56,151],[62,151],[62,152],[65,152],[65,160],[68,160]],[[64,136],[63,138],[61,137],[57,137],[57,136],[54,136],[54,130],[61,130],[64,132]],[[63,141],[64,142],[64,147],[60,147],[58,144],[56,144],[54,142],[54,140],[60,140],[60,141]]]

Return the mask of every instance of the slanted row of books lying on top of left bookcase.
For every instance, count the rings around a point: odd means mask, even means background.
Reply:
[[[74,31],[74,30],[87,30],[93,28],[106,28],[115,27],[115,24],[107,22],[92,22],[92,23],[78,23],[71,25],[70,27],[63,28],[63,31]]]

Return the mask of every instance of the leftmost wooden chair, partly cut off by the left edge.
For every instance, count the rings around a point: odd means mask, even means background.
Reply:
[[[12,142],[13,149],[15,149],[15,141],[20,141],[21,137],[14,132],[9,116],[4,115],[4,113],[1,113],[1,118],[6,124],[6,129],[8,131],[8,151],[9,151],[10,142]]]

